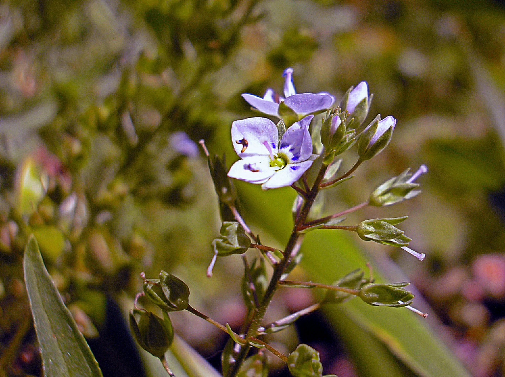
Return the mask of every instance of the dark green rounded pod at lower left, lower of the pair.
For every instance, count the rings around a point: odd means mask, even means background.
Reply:
[[[164,318],[144,309],[130,310],[130,329],[142,349],[162,359],[174,339],[168,314]]]

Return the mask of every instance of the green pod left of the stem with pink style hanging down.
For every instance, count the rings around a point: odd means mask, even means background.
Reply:
[[[244,228],[235,221],[224,221],[220,233],[221,236],[212,241],[214,252],[220,256],[243,254],[251,244]]]

